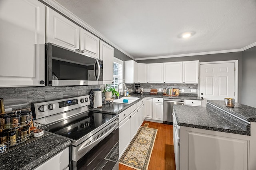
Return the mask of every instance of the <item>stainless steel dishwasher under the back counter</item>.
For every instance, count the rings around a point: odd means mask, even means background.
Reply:
[[[173,124],[173,105],[183,105],[184,99],[165,99],[164,98],[164,110],[163,110],[163,121],[165,124]]]

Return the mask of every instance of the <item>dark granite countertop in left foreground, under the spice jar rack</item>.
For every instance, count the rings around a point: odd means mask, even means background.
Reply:
[[[0,156],[0,170],[31,170],[61,152],[70,140],[48,134]]]

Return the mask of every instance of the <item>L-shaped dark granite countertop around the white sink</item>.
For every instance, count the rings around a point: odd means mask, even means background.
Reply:
[[[158,95],[150,95],[148,94],[131,94],[131,96],[138,96],[140,99],[137,101],[134,101],[131,104],[122,104],[122,103],[114,103],[114,105],[112,105],[112,103],[106,103],[106,105],[104,105],[104,103],[102,104],[102,108],[91,108],[90,111],[95,111],[95,112],[99,112],[99,113],[108,113],[108,114],[119,114],[122,111],[124,111],[125,109],[127,109],[128,107],[136,104],[138,101],[142,100],[145,97],[153,97],[153,98],[168,98],[168,99],[189,99],[189,100],[202,100],[200,97],[197,96],[163,96],[162,94],[158,94]],[[120,96],[121,97],[121,96]]]

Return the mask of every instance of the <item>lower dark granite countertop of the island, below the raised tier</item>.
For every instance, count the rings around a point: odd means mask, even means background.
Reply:
[[[174,105],[174,110],[179,126],[250,135],[250,124],[240,127],[206,107]]]

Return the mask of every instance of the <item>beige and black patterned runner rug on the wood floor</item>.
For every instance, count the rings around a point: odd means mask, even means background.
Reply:
[[[120,164],[136,170],[147,170],[156,139],[157,129],[140,127],[119,160]]]

